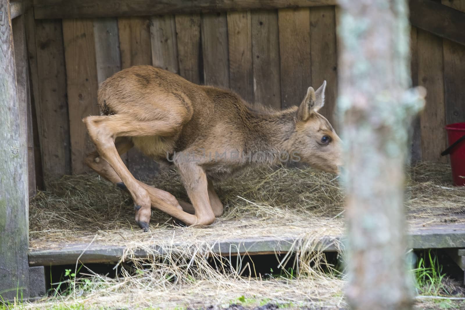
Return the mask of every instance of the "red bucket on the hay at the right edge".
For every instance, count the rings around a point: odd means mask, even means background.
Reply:
[[[451,155],[452,178],[454,185],[465,186],[465,123],[445,126],[449,148],[441,155]]]

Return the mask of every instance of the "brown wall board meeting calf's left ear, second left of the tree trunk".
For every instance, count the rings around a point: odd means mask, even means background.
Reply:
[[[310,11],[278,11],[282,107],[299,105],[312,85]]]

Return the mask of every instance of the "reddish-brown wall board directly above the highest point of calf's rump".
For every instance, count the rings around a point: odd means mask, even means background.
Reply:
[[[152,65],[150,19],[147,17],[119,17],[121,68],[133,65]]]

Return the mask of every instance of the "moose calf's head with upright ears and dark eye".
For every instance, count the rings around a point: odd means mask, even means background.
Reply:
[[[309,87],[297,109],[290,149],[300,160],[326,172],[339,173],[342,165],[341,139],[328,120],[318,113],[325,104],[326,81],[314,90]]]

